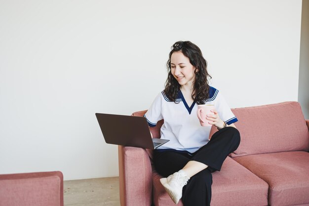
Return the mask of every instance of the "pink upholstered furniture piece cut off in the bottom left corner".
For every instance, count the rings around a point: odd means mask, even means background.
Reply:
[[[0,206],[63,206],[62,172],[0,174]]]

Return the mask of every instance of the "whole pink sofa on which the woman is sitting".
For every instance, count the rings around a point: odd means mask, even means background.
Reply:
[[[309,206],[309,120],[299,103],[232,111],[241,142],[212,173],[211,206]],[[162,123],[151,128],[155,137]],[[119,146],[118,155],[121,206],[175,205],[159,182],[151,150]]]

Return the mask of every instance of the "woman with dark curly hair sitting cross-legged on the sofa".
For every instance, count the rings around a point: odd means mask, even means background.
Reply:
[[[150,126],[164,119],[161,139],[170,140],[154,150],[154,166],[175,204],[182,199],[185,206],[210,206],[211,172],[220,170],[240,143],[237,118],[219,90],[208,85],[207,62],[195,44],[174,43],[167,69],[165,89],[145,114]],[[205,103],[216,108],[206,118],[219,129],[211,140],[211,127],[201,126],[196,116],[197,105]]]

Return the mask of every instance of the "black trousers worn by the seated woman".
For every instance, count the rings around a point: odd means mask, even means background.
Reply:
[[[175,150],[154,150],[154,166],[164,177],[182,169],[189,161],[197,161],[208,167],[193,175],[183,188],[184,206],[210,206],[211,172],[221,169],[227,156],[240,143],[240,134],[234,127],[225,127],[213,134],[208,144],[194,153]]]

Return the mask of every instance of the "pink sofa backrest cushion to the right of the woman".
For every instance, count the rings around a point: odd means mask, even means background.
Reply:
[[[298,102],[232,109],[238,122],[238,157],[284,151],[308,151],[309,132]]]

